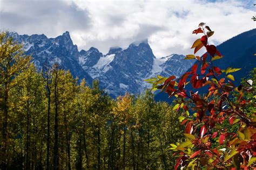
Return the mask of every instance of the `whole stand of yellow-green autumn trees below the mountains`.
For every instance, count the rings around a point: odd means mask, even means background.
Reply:
[[[58,64],[38,72],[0,35],[2,169],[171,169],[179,113],[150,90],[117,99]]]

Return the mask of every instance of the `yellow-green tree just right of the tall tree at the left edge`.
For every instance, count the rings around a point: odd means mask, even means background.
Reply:
[[[16,135],[24,134],[24,138],[16,139],[15,144],[22,142],[24,147],[24,169],[42,167],[41,158],[44,140],[44,133],[41,129],[44,113],[44,87],[43,78],[38,73],[33,64],[29,64],[28,68],[20,73],[14,79],[17,84],[11,90],[12,96],[12,126],[19,125],[21,128],[13,130]],[[23,119],[26,118],[26,119]],[[21,140],[21,141],[20,141]],[[17,147],[17,146],[16,146]],[[18,148],[18,147],[17,147]],[[18,152],[18,150],[17,150]]]

